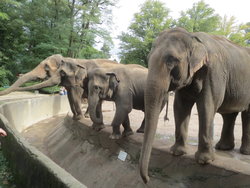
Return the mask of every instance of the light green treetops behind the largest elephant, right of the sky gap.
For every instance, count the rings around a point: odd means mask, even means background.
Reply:
[[[215,10],[203,0],[194,3],[181,16],[173,20],[170,10],[160,1],[146,1],[134,19],[128,31],[120,36],[122,63],[138,63],[147,66],[147,55],[156,36],[167,28],[182,27],[190,32],[207,32],[224,35],[233,42],[250,45],[250,23],[237,25],[235,17],[221,18]]]

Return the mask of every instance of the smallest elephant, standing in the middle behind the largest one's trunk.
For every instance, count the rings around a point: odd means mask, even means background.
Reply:
[[[102,121],[99,108],[103,100],[114,101],[116,105],[115,116],[111,123],[113,128],[111,139],[119,139],[122,135],[133,134],[128,114],[132,109],[144,111],[144,89],[147,74],[148,70],[138,67],[138,65],[99,68],[89,72],[88,102],[91,120],[97,123]],[[121,124],[124,127],[122,134]],[[144,132],[144,120],[137,132]]]

